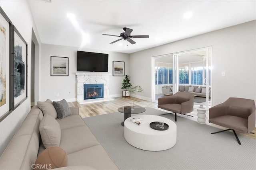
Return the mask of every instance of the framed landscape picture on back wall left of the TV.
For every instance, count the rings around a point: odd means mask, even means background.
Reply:
[[[51,56],[51,76],[68,76],[68,57]]]

